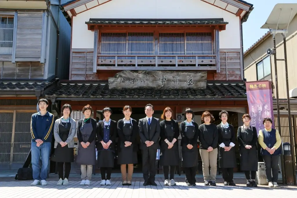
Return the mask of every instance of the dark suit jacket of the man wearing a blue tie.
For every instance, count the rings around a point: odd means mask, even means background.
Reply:
[[[159,138],[160,138],[160,121],[157,118],[152,117],[150,124],[150,133],[148,132],[148,122],[145,118],[142,118],[138,122],[138,131],[140,136],[140,146],[142,148],[147,148],[145,141],[153,141],[154,144],[151,147],[159,147]]]

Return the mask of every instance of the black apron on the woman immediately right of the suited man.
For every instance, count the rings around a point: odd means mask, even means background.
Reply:
[[[173,122],[171,124],[165,123],[165,137],[169,142],[172,142],[174,137]],[[160,165],[162,166],[178,166],[179,153],[178,153],[178,140],[174,142],[172,148],[168,148],[168,144],[165,141],[161,142]]]

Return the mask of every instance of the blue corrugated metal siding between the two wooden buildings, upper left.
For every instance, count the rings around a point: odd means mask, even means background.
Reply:
[[[67,3],[69,0],[61,0],[60,3]],[[58,7],[58,6],[56,6]],[[69,60],[70,60],[70,38],[71,26],[59,10],[59,54],[58,54],[58,76],[60,79],[69,79]]]

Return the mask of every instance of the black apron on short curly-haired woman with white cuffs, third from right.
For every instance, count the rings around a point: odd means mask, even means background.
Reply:
[[[228,127],[225,129],[221,127],[221,135],[224,140],[225,146],[229,146],[232,138],[231,129]],[[225,148],[219,147],[219,167],[220,168],[235,168],[236,167],[236,155],[235,148],[232,147],[230,151],[225,151]]]

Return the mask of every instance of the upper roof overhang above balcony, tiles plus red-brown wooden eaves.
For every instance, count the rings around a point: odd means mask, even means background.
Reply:
[[[223,18],[211,19],[90,19],[86,21],[89,30],[103,26],[214,26],[225,30],[228,22]]]

